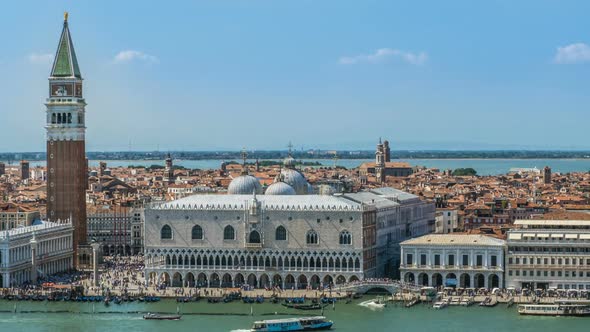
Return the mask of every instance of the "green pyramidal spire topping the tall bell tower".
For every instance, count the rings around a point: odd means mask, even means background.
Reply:
[[[57,46],[57,53],[51,69],[51,77],[76,77],[82,78],[78,59],[74,51],[74,44],[68,28],[68,13],[64,14],[64,27]]]

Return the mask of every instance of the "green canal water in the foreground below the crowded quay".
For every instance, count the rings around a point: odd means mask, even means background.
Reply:
[[[350,304],[337,303],[335,310],[326,307],[324,315],[334,321],[335,331],[589,331],[590,318],[520,316],[516,306],[495,308],[472,306],[442,310],[427,305],[403,308],[391,305],[380,311],[360,306],[365,299]],[[16,305],[16,307],[15,307]],[[180,321],[146,321],[143,312],[183,314]],[[16,310],[16,313],[14,311]],[[250,312],[253,316],[250,316]],[[94,313],[93,313],[94,312]],[[275,312],[277,315],[275,315]],[[158,303],[125,303],[105,307],[102,303],[9,302],[0,301],[0,331],[157,331],[217,332],[248,331],[254,320],[316,315],[279,304],[217,303],[205,301],[177,304],[172,300]]]

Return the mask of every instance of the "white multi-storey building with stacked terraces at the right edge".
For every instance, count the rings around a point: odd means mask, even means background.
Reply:
[[[590,289],[590,220],[517,220],[508,232],[508,287]]]

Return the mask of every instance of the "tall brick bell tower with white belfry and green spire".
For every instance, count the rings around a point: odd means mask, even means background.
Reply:
[[[82,75],[64,14],[63,30],[49,76],[47,107],[47,218],[74,226],[74,266],[86,244],[86,125]]]

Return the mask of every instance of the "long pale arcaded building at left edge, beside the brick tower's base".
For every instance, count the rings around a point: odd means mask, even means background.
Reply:
[[[72,269],[73,231],[70,223],[36,221],[0,232],[0,285],[34,283],[37,277]]]

